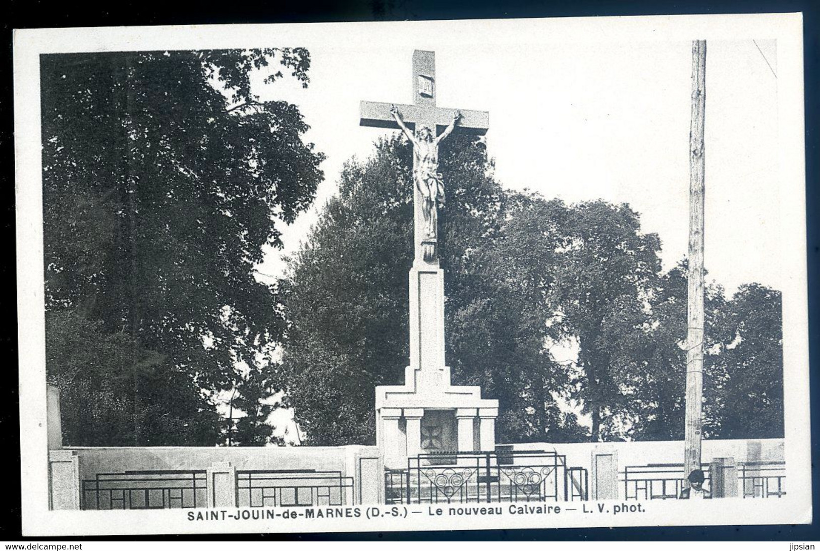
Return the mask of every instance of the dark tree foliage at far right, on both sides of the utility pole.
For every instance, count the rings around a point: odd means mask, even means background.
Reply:
[[[648,360],[624,415],[634,439],[683,439],[687,265],[663,275],[652,303]],[[704,438],[780,438],[783,432],[781,293],[740,285],[726,298],[706,286]]]

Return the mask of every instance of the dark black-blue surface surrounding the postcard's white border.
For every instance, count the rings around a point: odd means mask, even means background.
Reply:
[[[7,312],[7,330],[0,333],[0,348],[6,353],[7,377],[2,385],[5,407],[0,412],[0,435],[11,458],[4,494],[0,504],[0,540],[21,539],[19,463],[20,426],[17,396],[16,294],[15,285],[15,211],[14,211],[14,143],[12,100],[12,30],[46,27],[87,27],[120,25],[205,25],[228,23],[300,23],[322,21],[379,20],[442,20],[511,17],[567,16],[640,16],[655,14],[714,14],[749,12],[804,12],[804,80],[806,115],[806,205],[809,261],[809,346],[811,359],[812,456],[817,458],[818,442],[818,258],[820,258],[820,227],[818,227],[818,8],[815,2],[690,2],[612,0],[592,2],[546,1],[488,2],[486,0],[349,0],[348,2],[157,2],[156,0],[125,0],[98,4],[89,2],[53,2],[38,0],[8,0],[2,16],[3,51],[0,56],[0,154],[2,154],[2,203],[0,228],[6,236],[7,262],[0,264],[0,275],[7,281],[8,292],[0,295],[0,308]],[[786,267],[788,269],[788,267]],[[15,459],[16,458],[16,459]],[[813,468],[813,509],[818,506],[818,477]],[[820,540],[817,521],[811,526],[692,526],[658,528],[587,528],[553,530],[499,531],[438,531],[388,532],[353,534],[266,534],[222,536],[141,536],[133,540],[786,540],[800,542]],[[76,538],[76,540],[118,540],[121,538]],[[44,539],[42,539],[44,540]],[[66,538],[54,540],[67,541]],[[784,547],[784,549],[787,549]]]

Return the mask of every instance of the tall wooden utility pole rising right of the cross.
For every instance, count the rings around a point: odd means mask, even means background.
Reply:
[[[706,41],[692,43],[692,121],[689,130],[689,289],[686,331],[686,449],[684,476],[700,468],[704,394],[704,115]],[[689,481],[684,483],[689,487]]]

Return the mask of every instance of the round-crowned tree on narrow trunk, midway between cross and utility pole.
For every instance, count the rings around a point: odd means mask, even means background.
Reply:
[[[660,241],[626,204],[578,203],[563,225],[549,302],[554,324],[578,348],[567,397],[591,418],[590,439],[610,439],[640,380],[645,330],[660,273]],[[617,438],[617,436],[614,436]]]

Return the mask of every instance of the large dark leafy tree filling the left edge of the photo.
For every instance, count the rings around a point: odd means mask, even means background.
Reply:
[[[95,404],[71,444],[218,439],[209,394],[284,328],[253,266],[322,177],[298,108],[259,102],[250,74],[307,85],[309,62],[303,48],[42,57],[48,376],[67,420],[100,385],[112,408]]]

